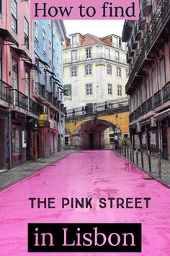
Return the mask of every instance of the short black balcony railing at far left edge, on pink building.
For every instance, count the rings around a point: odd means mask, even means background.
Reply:
[[[12,103],[12,86],[0,80],[0,98],[3,101]]]

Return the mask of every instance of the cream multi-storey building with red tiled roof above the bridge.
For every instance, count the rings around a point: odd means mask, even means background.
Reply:
[[[125,97],[128,77],[125,43],[117,35],[69,35],[63,49],[67,108]]]

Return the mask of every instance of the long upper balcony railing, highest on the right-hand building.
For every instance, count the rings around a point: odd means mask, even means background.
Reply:
[[[141,15],[142,14],[140,12],[139,23],[141,22]],[[146,52],[151,51],[151,48],[153,47],[153,43],[155,43],[156,38],[158,38],[158,35],[160,35],[161,31],[166,25],[166,22],[169,20],[169,17],[170,17],[170,1],[169,0],[160,1],[156,9],[156,12],[153,14],[151,22],[148,24],[146,34],[144,35],[143,43],[140,46],[138,55],[136,56],[136,61],[134,63],[133,69],[130,73],[130,78],[126,85],[126,92],[128,91],[128,88],[130,87],[130,85],[132,84],[135,78],[135,74],[138,73],[141,65],[143,64],[146,57]]]

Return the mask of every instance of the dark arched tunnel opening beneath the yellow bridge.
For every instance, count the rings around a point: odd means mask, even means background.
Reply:
[[[102,119],[91,119],[82,123],[73,132],[73,144],[80,149],[104,148],[104,131],[112,127],[115,131],[115,124]]]

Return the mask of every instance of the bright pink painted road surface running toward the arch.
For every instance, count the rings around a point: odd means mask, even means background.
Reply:
[[[0,193],[0,255],[169,256],[169,189],[112,151],[73,153]],[[29,197],[55,197],[31,209]],[[61,197],[93,197],[93,209],[61,208]],[[151,197],[149,208],[101,209],[99,197]],[[27,223],[142,223],[141,253],[28,253]]]

